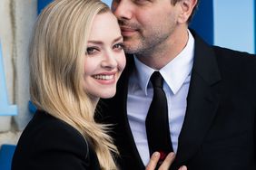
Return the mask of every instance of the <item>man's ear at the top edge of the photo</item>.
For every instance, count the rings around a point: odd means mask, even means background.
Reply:
[[[192,10],[197,4],[197,0],[181,0],[178,2],[178,4],[181,6],[182,13],[179,14],[179,23],[187,23],[190,16],[192,15]],[[178,5],[177,4],[177,5]]]

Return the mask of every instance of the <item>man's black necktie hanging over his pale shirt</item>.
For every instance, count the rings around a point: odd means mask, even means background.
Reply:
[[[153,100],[145,121],[150,156],[158,151],[161,154],[159,163],[173,151],[170,137],[167,99],[162,90],[162,76],[159,71],[154,71],[151,76],[153,84]]]

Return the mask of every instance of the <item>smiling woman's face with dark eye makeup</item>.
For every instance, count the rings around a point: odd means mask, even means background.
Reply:
[[[125,66],[123,37],[111,12],[94,18],[84,63],[84,90],[94,99],[111,98]]]

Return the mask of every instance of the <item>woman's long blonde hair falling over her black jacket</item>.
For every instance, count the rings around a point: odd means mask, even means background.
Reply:
[[[35,24],[30,47],[30,93],[43,109],[75,127],[94,146],[102,169],[117,169],[108,127],[94,121],[84,91],[84,55],[96,14],[110,12],[100,0],[55,0]]]

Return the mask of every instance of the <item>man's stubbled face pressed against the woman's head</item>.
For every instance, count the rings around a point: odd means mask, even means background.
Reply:
[[[127,53],[161,50],[177,26],[181,5],[171,0],[113,0]],[[170,42],[170,41],[169,41]]]

